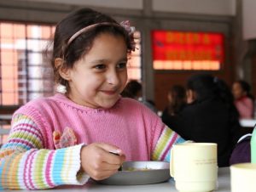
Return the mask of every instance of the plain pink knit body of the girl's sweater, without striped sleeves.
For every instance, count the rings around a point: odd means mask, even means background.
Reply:
[[[131,113],[132,111],[132,113]],[[106,142],[125,152],[127,161],[148,161],[165,127],[160,118],[134,99],[119,99],[112,109],[91,109],[62,94],[37,99],[16,113],[32,117],[48,149],[54,149],[53,132],[71,127],[78,143]]]

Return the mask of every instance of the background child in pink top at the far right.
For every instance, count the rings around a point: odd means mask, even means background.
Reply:
[[[232,85],[232,93],[235,98],[236,109],[240,118],[252,119],[254,114],[254,97],[250,93],[250,85],[242,80]]]

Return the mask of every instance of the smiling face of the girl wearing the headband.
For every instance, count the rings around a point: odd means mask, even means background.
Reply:
[[[90,108],[110,108],[127,81],[127,48],[123,37],[103,33],[90,51],[67,71],[69,99]]]

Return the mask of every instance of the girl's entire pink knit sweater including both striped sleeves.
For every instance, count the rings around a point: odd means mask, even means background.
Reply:
[[[62,139],[60,145],[54,133],[77,142]],[[111,109],[80,106],[62,94],[36,99],[15,112],[0,150],[0,189],[84,184],[88,175],[79,171],[80,149],[93,142],[118,146],[126,161],[169,161],[172,145],[184,140],[133,99],[119,99]]]

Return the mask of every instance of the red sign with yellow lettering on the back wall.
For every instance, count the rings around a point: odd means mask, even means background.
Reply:
[[[224,63],[224,35],[152,31],[154,70],[218,71]]]

